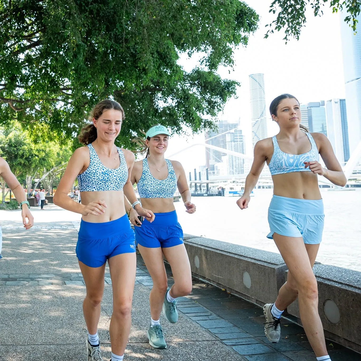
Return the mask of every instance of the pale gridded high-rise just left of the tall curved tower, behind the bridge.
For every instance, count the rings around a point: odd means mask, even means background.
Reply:
[[[227,149],[244,154],[244,135],[242,130],[235,129],[226,134]],[[228,155],[227,161],[228,174],[243,174],[244,159]]]

